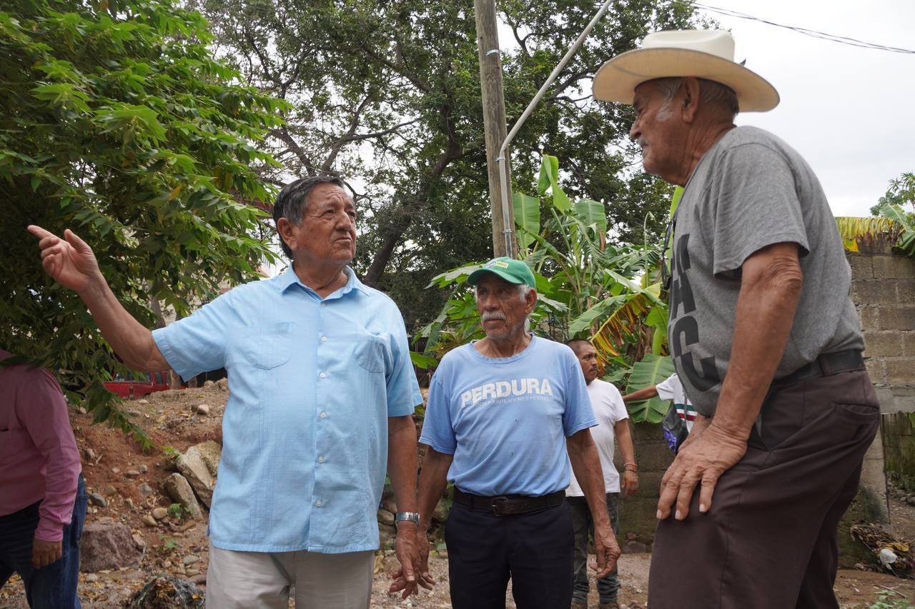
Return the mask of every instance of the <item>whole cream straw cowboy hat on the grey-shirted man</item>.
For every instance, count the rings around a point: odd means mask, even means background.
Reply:
[[[694,76],[714,80],[737,93],[740,112],[766,112],[779,105],[779,92],[768,80],[734,61],[734,38],[720,29],[654,32],[641,48],[620,53],[594,77],[594,97],[632,103],[635,88],[646,80]]]

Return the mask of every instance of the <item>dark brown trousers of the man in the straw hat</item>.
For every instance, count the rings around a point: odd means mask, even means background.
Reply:
[[[773,388],[711,510],[696,492],[685,520],[658,523],[649,607],[837,609],[838,522],[879,422],[865,370]]]

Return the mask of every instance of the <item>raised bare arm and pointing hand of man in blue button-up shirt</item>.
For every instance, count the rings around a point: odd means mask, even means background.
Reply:
[[[64,239],[34,225],[28,231],[38,237],[45,271],[54,281],[80,295],[102,336],[127,368],[143,372],[169,369],[152,332],[118,302],[85,241],[70,229],[64,231]]]

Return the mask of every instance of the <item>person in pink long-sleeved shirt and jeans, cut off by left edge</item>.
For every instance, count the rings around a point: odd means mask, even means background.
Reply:
[[[0,361],[10,354],[0,349]],[[0,588],[18,572],[35,609],[79,609],[86,517],[67,402],[46,369],[0,366]]]

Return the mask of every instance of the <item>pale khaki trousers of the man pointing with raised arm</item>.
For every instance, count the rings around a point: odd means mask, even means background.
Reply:
[[[208,609],[369,609],[374,552],[243,552],[210,543]]]

